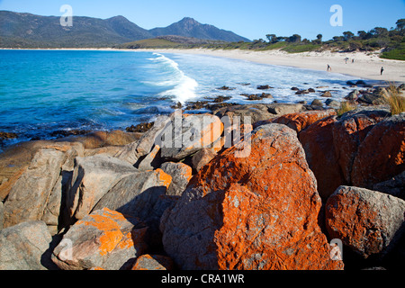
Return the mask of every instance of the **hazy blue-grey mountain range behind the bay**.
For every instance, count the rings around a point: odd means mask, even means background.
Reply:
[[[146,30],[123,16],[109,19],[73,17],[63,27],[58,16],[0,11],[1,48],[102,48],[158,36],[183,36],[202,40],[249,41],[232,31],[185,17],[165,28]]]

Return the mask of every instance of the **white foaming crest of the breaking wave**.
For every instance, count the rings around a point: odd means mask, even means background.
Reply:
[[[169,71],[169,75],[166,75],[165,79],[153,83],[158,86],[170,87],[161,92],[159,94],[160,96],[173,97],[176,102],[180,103],[185,103],[186,101],[197,97],[195,89],[197,88],[198,83],[195,79],[186,76],[174,60],[166,58],[166,56],[159,53],[153,53],[153,55],[157,56],[157,58],[150,58],[150,60],[160,63]]]

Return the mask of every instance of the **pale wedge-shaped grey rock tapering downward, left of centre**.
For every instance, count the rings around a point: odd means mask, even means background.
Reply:
[[[83,219],[115,184],[136,172],[137,168],[115,157],[76,157],[67,192],[68,216]]]

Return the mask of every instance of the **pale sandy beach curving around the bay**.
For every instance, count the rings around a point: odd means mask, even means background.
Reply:
[[[232,58],[246,60],[265,65],[284,67],[297,67],[317,71],[326,71],[329,65],[331,73],[348,76],[357,76],[362,79],[376,80],[378,82],[404,83],[405,61],[379,58],[378,53],[365,52],[302,52],[287,53],[280,50],[252,51],[241,49],[14,49],[14,50],[98,50],[98,51],[130,51],[130,52],[157,52],[174,54],[205,55],[210,57]],[[348,58],[347,63],[345,58]],[[352,59],[355,62],[352,63]],[[384,68],[383,76],[380,74]]]

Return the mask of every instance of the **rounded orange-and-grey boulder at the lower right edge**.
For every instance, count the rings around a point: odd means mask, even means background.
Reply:
[[[382,257],[405,232],[405,202],[365,188],[340,186],[326,205],[330,238],[362,257]]]

